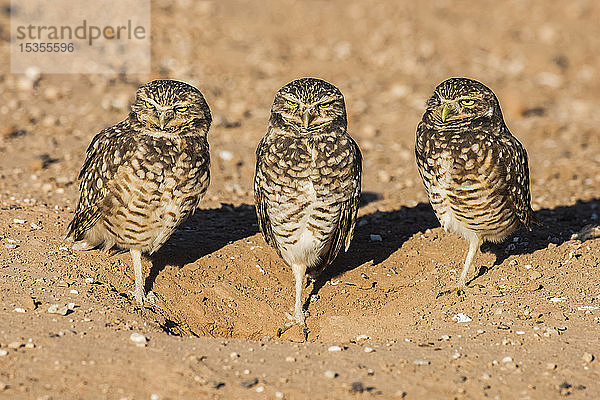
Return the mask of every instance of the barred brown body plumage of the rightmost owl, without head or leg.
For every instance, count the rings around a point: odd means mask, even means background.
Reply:
[[[503,123],[452,132],[421,122],[415,151],[438,217],[451,209],[473,230],[538,223],[530,206],[527,153]]]

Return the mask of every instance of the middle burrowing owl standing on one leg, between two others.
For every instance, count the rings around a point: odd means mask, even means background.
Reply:
[[[361,160],[346,131],[346,106],[338,88],[303,78],[277,92],[267,134],[256,150],[254,193],[263,237],[296,280],[294,315],[288,314],[286,328],[298,323],[307,334],[305,275],[315,277],[350,245]]]

